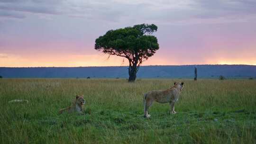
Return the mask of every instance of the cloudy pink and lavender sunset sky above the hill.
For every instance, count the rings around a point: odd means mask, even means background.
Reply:
[[[142,23],[159,44],[142,65],[256,65],[256,0],[0,0],[0,67],[125,66],[95,39]]]

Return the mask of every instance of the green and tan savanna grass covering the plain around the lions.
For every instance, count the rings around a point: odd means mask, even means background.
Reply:
[[[174,81],[177,114],[153,103],[144,118],[143,94]],[[76,94],[86,115],[59,115]],[[0,99],[0,144],[256,143],[256,80],[1,79]]]

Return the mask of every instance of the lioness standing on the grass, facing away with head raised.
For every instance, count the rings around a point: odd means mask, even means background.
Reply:
[[[167,90],[154,90],[149,91],[144,95],[144,117],[150,117],[148,109],[152,105],[153,101],[159,103],[170,103],[171,114],[176,114],[174,111],[174,104],[179,99],[179,95],[183,89],[184,83],[174,82],[174,86]]]

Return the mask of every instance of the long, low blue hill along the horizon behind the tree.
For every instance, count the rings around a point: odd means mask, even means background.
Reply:
[[[255,65],[197,65],[198,78],[256,78]],[[128,78],[127,66],[0,67],[3,78]],[[194,65],[141,66],[137,78],[193,78]]]

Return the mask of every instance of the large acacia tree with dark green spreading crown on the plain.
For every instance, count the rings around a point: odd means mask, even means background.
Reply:
[[[117,55],[128,59],[129,80],[135,81],[141,63],[159,49],[157,38],[151,36],[157,31],[154,24],[141,24],[133,27],[109,30],[95,40],[95,49],[105,54]]]

